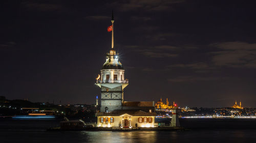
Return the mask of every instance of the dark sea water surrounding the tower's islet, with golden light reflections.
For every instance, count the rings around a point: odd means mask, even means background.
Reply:
[[[162,122],[169,122],[162,120]],[[189,131],[46,131],[59,120],[0,120],[0,142],[255,142],[253,119],[180,119]]]

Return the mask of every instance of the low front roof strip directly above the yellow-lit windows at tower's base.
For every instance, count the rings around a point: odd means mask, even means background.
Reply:
[[[121,116],[124,114],[131,116],[156,116],[156,112],[145,112],[142,110],[113,110],[111,112],[96,112],[96,116]]]

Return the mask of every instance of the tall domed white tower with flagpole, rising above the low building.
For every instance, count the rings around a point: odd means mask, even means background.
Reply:
[[[100,78],[96,79],[96,85],[101,88],[100,112],[109,112],[122,109],[123,89],[128,85],[124,79],[124,70],[119,62],[118,53],[114,49],[114,16],[112,12],[112,46],[106,53],[106,61],[100,70]]]

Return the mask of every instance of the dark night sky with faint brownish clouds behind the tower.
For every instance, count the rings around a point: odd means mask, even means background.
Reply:
[[[1,1],[0,96],[95,103],[115,49],[125,101],[256,107],[256,10],[246,1]]]

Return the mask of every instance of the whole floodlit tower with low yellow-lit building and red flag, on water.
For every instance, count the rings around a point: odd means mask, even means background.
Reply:
[[[154,101],[124,101],[123,90],[129,84],[124,78],[119,54],[114,49],[114,16],[112,13],[112,47],[106,53],[105,63],[96,78],[101,96],[96,98],[100,110],[96,112],[97,126],[109,128],[157,127]]]

